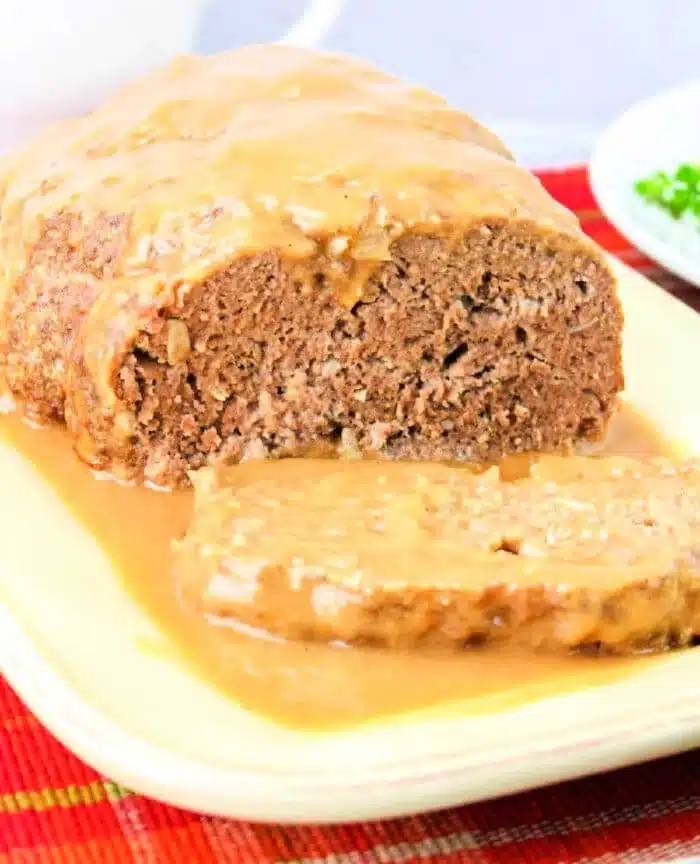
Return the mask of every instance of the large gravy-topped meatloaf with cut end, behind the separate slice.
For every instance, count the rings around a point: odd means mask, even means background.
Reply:
[[[47,129],[0,193],[0,377],[120,477],[566,449],[622,386],[614,278],[575,218],[359,60],[180,58]]]

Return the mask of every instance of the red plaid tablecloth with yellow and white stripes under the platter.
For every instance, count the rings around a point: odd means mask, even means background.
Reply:
[[[700,309],[700,292],[660,271],[603,219],[583,169],[542,179],[602,246]],[[0,864],[652,864],[694,853],[700,751],[427,816],[253,825],[166,807],[100,776],[0,680]]]

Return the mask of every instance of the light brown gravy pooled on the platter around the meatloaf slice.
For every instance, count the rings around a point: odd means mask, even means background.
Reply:
[[[231,698],[279,723],[326,729],[410,710],[493,710],[614,681],[655,662],[501,649],[408,655],[276,642],[212,627],[182,612],[169,576],[170,543],[187,525],[189,491],[98,481],[75,458],[61,428],[34,429],[2,415],[0,438],[32,462],[109,554],[126,589],[165,633],[172,660],[194,665]],[[603,449],[652,456],[671,448],[625,406]]]

